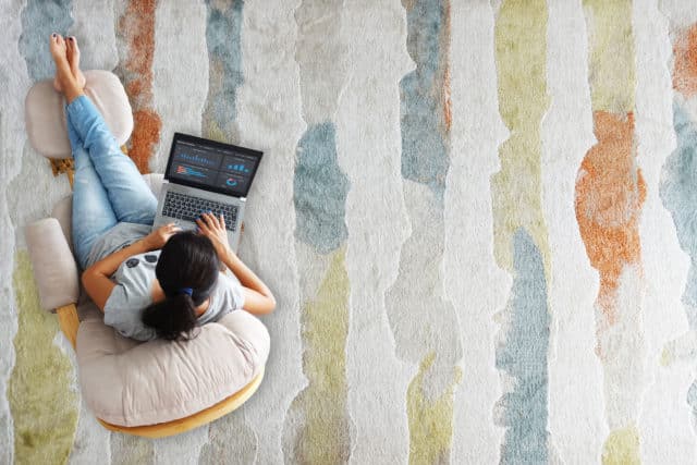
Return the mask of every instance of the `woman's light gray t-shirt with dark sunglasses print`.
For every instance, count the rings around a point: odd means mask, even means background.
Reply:
[[[143,323],[140,317],[152,304],[152,281],[159,256],[160,250],[152,250],[129,257],[111,277],[117,285],[105,304],[105,325],[115,328],[123,336],[138,341],[157,338],[156,331]],[[218,321],[243,305],[242,284],[234,274],[221,272],[210,293],[208,309],[198,317],[197,323]]]

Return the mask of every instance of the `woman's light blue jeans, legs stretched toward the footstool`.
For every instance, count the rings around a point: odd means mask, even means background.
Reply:
[[[152,224],[157,199],[87,97],[73,100],[66,113],[75,159],[73,246],[85,269],[95,241],[119,222]]]

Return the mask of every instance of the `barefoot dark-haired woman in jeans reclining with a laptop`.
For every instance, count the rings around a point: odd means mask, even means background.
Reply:
[[[50,50],[75,162],[73,245],[105,323],[142,341],[176,340],[234,309],[273,311],[273,294],[230,248],[222,216],[203,212],[198,233],[174,224],[151,231],[157,199],[84,95],[75,38],[53,34]],[[219,271],[221,262],[236,279]]]

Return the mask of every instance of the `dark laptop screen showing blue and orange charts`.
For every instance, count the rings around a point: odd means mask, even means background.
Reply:
[[[164,178],[176,184],[246,197],[261,152],[186,134],[174,134]]]

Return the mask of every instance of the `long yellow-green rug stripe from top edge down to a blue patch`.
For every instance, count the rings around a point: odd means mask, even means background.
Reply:
[[[501,5],[496,58],[499,108],[511,135],[499,147],[501,170],[491,182],[494,256],[501,268],[513,270],[513,237],[524,228],[540,248],[549,276],[540,161],[540,124],[550,103],[545,1],[509,0]]]

